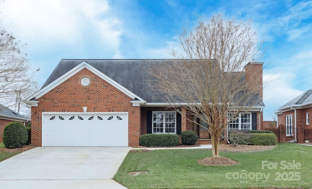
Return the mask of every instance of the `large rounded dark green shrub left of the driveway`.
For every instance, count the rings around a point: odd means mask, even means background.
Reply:
[[[20,148],[28,139],[26,127],[20,122],[9,123],[4,127],[3,144],[6,148]]]

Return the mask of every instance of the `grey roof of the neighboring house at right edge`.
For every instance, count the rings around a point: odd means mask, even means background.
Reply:
[[[305,91],[301,95],[297,96],[296,98],[292,99],[290,102],[282,105],[278,108],[278,110],[283,110],[290,108],[292,106],[305,106],[312,104],[312,89]]]

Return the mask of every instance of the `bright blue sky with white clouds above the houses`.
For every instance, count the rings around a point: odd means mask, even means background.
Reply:
[[[3,0],[2,0],[3,1]],[[62,58],[171,58],[183,27],[223,14],[253,19],[266,48],[264,120],[312,88],[309,0],[4,0],[2,25],[22,44],[41,87]]]

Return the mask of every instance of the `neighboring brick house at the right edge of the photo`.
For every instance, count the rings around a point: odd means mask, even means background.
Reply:
[[[309,121],[312,117],[312,89],[282,105],[275,113],[281,143],[312,140],[312,123]]]

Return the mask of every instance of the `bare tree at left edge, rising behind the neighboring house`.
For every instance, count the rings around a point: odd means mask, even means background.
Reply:
[[[0,103],[10,107],[33,90],[33,73],[39,71],[31,69],[27,54],[21,48],[24,46],[13,34],[0,28]]]

